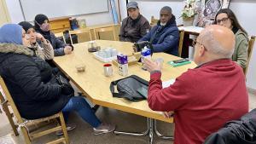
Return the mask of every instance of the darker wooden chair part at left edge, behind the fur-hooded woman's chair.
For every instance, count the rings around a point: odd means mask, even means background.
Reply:
[[[9,111],[9,102],[4,98],[3,95],[4,94],[2,94],[2,91],[0,91],[0,102],[3,107],[3,111],[5,112],[5,115],[9,120],[9,124],[11,125],[12,129],[14,130],[15,136],[17,136],[17,135],[19,135],[18,130],[17,130],[18,125],[16,125],[14,122],[14,119],[13,119],[14,113],[11,113]]]

